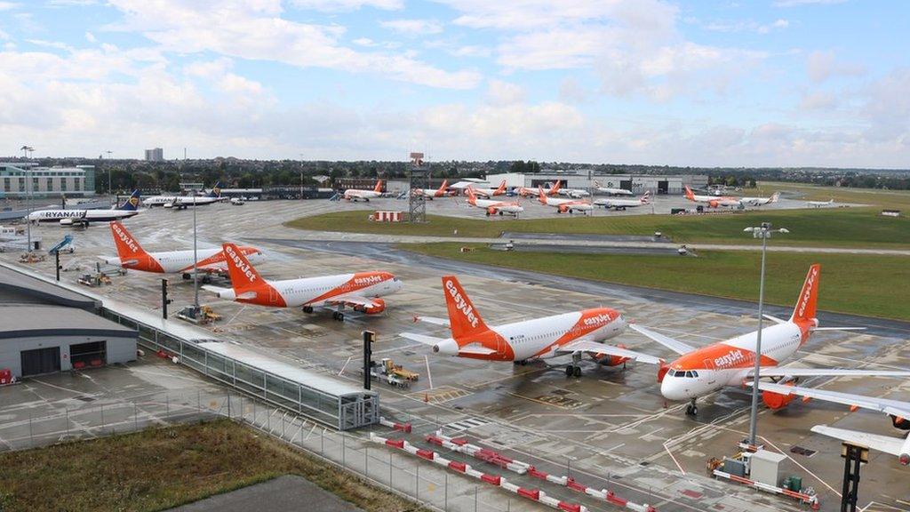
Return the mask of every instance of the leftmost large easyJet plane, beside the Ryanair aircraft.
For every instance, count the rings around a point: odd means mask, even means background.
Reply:
[[[193,272],[193,250],[147,252],[132,234],[116,220],[111,222],[111,236],[116,245],[116,258],[102,256],[108,265],[119,265],[136,271],[182,274],[189,279]],[[255,247],[238,249],[249,261],[265,261],[265,255]],[[196,268],[208,276],[212,273],[227,275],[227,261],[220,247],[198,249]],[[206,280],[207,281],[207,280]]]

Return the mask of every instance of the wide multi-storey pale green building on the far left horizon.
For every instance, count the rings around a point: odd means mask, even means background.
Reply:
[[[22,199],[29,194],[35,198],[93,196],[95,166],[39,167],[31,162],[0,162],[0,198]]]

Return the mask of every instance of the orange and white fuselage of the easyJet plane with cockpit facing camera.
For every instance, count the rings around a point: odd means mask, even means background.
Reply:
[[[661,394],[669,400],[687,400],[751,379],[757,332],[682,355],[663,376]],[[762,330],[763,365],[777,366],[799,350],[803,333],[795,323],[776,323]]]

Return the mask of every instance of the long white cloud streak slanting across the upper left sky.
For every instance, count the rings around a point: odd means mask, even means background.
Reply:
[[[126,19],[109,29],[141,32],[168,52],[214,52],[297,67],[374,73],[430,87],[472,88],[480,82],[475,71],[447,71],[408,54],[362,53],[342,46],[339,37],[344,27],[289,21],[280,17],[279,0],[231,0],[216,7],[180,0],[159,0],[154,5],[147,0],[110,3]],[[213,19],[225,23],[213,23]]]

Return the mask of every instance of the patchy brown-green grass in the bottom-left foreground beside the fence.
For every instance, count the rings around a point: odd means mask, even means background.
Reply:
[[[162,510],[287,474],[364,510],[417,509],[221,420],[0,455],[0,510]]]

